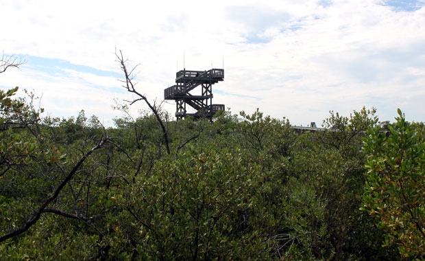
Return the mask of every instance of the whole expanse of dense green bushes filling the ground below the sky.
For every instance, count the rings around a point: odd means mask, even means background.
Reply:
[[[104,128],[16,91],[0,91],[0,260],[424,258],[425,128],[400,111],[388,137],[365,108],[302,135],[258,110]]]

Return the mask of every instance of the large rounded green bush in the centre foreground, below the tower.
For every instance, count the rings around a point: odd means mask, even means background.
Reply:
[[[189,146],[117,198],[122,218],[131,220],[118,229],[145,249],[139,252],[145,258],[250,259],[265,251],[258,236],[247,233],[248,217],[240,216],[252,207],[259,166],[243,166],[240,155],[209,151]]]

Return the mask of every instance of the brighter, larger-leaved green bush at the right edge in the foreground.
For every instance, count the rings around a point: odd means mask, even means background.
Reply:
[[[418,127],[398,109],[389,137],[369,128],[363,146],[368,155],[363,209],[387,232],[385,245],[411,258],[425,253],[425,143]]]

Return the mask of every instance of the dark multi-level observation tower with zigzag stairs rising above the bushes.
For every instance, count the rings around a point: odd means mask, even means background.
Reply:
[[[224,69],[210,69],[209,71],[178,71],[175,76],[175,85],[164,90],[165,100],[175,100],[175,117],[177,120],[186,116],[195,118],[206,117],[212,119],[217,111],[224,111],[224,104],[213,104],[213,84],[224,79]],[[198,86],[202,92],[195,95],[190,93]],[[199,90],[199,89],[198,89]],[[200,94],[200,95],[199,95]],[[187,113],[186,105],[196,110]]]

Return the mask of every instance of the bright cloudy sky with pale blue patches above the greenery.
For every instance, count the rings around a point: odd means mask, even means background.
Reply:
[[[138,90],[151,101],[183,67],[224,66],[213,103],[232,113],[258,107],[319,126],[330,110],[374,106],[380,120],[397,108],[425,120],[425,0],[0,0],[0,11],[0,51],[26,60],[0,88],[34,90],[45,115],[84,109],[111,126],[114,99],[132,98],[117,80],[117,47],[140,64]]]

